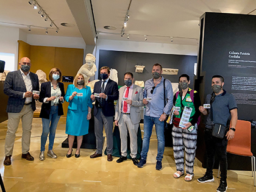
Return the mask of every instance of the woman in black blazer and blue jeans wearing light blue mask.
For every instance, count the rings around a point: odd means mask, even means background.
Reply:
[[[49,134],[49,146],[47,155],[51,158],[57,158],[57,155],[52,151],[54,145],[55,131],[59,122],[60,116],[63,115],[62,104],[65,101],[65,90],[62,79],[62,72],[59,68],[52,68],[49,73],[49,82],[41,84],[39,101],[43,102],[41,106],[40,118],[42,118],[43,132],[41,135],[41,152],[40,160],[44,160],[44,150],[46,140]],[[50,125],[51,123],[51,125]]]

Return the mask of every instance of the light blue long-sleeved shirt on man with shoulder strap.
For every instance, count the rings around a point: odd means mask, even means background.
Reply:
[[[152,87],[155,86],[154,80],[149,79],[145,83],[143,98],[151,98],[152,100],[146,104],[146,116],[151,116],[155,118],[159,118],[163,113],[169,114],[171,107],[172,107],[172,100],[173,100],[173,91],[171,82],[166,79],[165,80],[165,97],[168,101],[166,101],[166,105],[163,101],[163,80],[165,78],[162,77],[162,80],[159,84],[154,88],[153,94],[151,94]]]

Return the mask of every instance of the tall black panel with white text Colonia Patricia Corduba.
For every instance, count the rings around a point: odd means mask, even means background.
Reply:
[[[205,13],[200,18],[197,80],[201,101],[212,93],[212,76],[224,77],[224,90],[238,104],[238,119],[255,121],[256,110],[256,16]],[[204,127],[199,127],[196,157],[203,162]],[[256,133],[252,128],[252,153],[256,155]],[[251,170],[251,158],[228,154],[229,169]]]

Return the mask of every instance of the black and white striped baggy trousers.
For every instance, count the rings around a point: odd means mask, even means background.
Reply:
[[[184,172],[184,149],[185,168],[187,174],[194,172],[194,157],[196,156],[197,124],[191,132],[187,129],[172,127],[173,155],[177,171]]]

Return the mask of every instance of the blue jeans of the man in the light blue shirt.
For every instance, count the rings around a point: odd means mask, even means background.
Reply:
[[[141,150],[141,158],[145,160],[147,159],[149,141],[152,135],[153,126],[155,124],[155,132],[157,133],[157,160],[162,161],[163,152],[165,151],[165,123],[159,121],[159,118],[144,115],[144,137]]]

